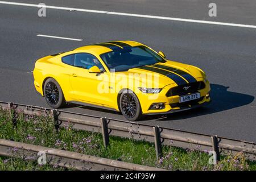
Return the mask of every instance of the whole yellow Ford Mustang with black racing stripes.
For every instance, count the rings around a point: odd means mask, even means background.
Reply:
[[[167,60],[163,52],[133,41],[92,44],[36,61],[36,90],[49,106],[68,102],[143,114],[173,113],[210,102],[205,73]]]

